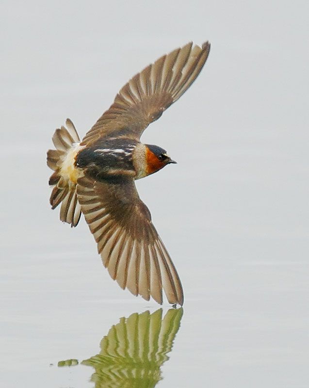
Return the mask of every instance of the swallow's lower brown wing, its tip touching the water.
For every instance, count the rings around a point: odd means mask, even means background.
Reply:
[[[78,179],[81,211],[98,243],[103,264],[120,287],[162,303],[183,304],[179,276],[138,196],[133,179]]]

